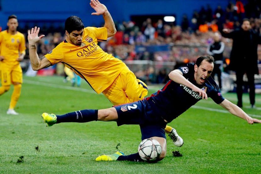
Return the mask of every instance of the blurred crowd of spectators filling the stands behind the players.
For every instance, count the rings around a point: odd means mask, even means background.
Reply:
[[[253,30],[260,33],[260,9],[259,0],[249,0],[246,4],[236,1],[236,3],[228,3],[225,9],[220,6],[216,9],[212,9],[209,5],[202,6],[198,11],[194,11],[191,18],[184,14],[180,25],[166,23],[161,19],[153,21],[153,18],[147,18],[142,26],[136,25],[135,21],[114,21],[117,33],[108,38],[107,42],[100,42],[100,47],[123,61],[164,61],[175,62],[176,65],[194,62],[199,55],[206,54],[208,44],[213,42],[214,32],[220,32],[223,28],[239,30],[243,18],[249,18]],[[28,28],[19,28],[18,31],[26,34]],[[45,34],[45,37],[37,45],[39,57],[50,52],[65,39],[65,31],[62,27],[40,28],[40,32]],[[221,41],[225,43],[224,57],[229,58],[232,40],[222,38]],[[163,50],[153,51],[152,46],[155,45],[166,47]],[[28,55],[25,58],[29,59]],[[261,49],[258,49],[258,55],[261,62]],[[177,66],[170,68],[161,66],[157,69],[151,66],[134,73],[146,83],[165,83],[169,71],[175,67]]]

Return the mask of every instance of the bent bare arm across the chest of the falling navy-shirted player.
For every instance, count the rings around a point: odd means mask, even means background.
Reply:
[[[190,81],[188,81],[182,74],[182,72],[178,69],[175,69],[169,73],[169,79],[173,80],[174,82],[178,84],[182,84],[187,86],[188,88],[191,88],[193,91],[197,92],[199,96],[202,96],[202,99],[208,99],[208,95],[200,88],[192,84]]]

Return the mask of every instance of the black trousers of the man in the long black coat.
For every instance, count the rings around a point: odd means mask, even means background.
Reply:
[[[243,75],[247,74],[247,81],[249,86],[249,99],[250,104],[255,104],[255,77],[253,70],[243,70],[243,71],[236,71],[236,94],[237,94],[237,104],[242,106],[242,95],[243,95]]]

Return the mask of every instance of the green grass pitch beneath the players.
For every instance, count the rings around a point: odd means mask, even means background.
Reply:
[[[160,88],[150,86],[149,94]],[[84,81],[78,88],[63,83],[60,76],[24,76],[15,108],[19,115],[6,115],[12,91],[0,96],[0,173],[261,173],[261,125],[249,125],[211,99],[199,101],[168,124],[184,145],[176,147],[167,138],[164,160],[96,162],[97,156],[115,151],[136,153],[139,126],[93,121],[46,127],[43,112],[59,115],[112,106]],[[236,94],[223,95],[236,103]],[[256,109],[248,107],[248,94],[243,101],[243,110],[261,119],[261,95],[256,95]],[[173,151],[182,156],[173,156]]]

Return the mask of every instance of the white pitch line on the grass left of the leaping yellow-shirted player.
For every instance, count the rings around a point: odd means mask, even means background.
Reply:
[[[97,94],[94,90],[88,90],[88,89],[84,89],[84,88],[76,88],[76,87],[73,87],[73,86],[64,86],[64,85],[59,85],[59,84],[39,82],[39,81],[33,81],[33,80],[27,80],[27,79],[23,79],[23,82],[28,83],[28,84],[47,86],[47,87],[58,88],[58,89],[74,90],[74,91],[81,91],[81,92]]]

